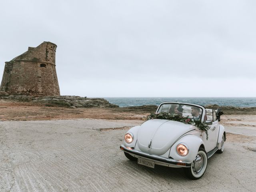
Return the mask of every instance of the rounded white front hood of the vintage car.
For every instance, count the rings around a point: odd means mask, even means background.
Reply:
[[[178,121],[148,120],[138,130],[137,144],[143,152],[162,155],[180,136],[195,129],[195,126]]]

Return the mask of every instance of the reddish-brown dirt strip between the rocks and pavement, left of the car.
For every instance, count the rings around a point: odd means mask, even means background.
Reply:
[[[47,107],[33,102],[10,102],[0,100],[0,120],[60,120],[76,118],[94,119],[142,119],[146,112],[123,111],[122,108],[66,108]]]

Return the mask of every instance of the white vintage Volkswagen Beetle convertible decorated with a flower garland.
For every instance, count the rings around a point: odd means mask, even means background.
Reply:
[[[138,164],[182,167],[186,176],[198,179],[208,158],[224,150],[226,132],[219,124],[221,114],[196,104],[164,102],[149,120],[128,130],[120,149]]]

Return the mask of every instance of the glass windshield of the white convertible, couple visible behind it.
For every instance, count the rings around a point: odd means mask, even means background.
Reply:
[[[201,120],[202,109],[197,106],[186,105],[186,104],[173,104],[166,103],[162,104],[158,110],[160,112],[168,112],[170,114],[178,114],[184,117],[190,117],[194,120]]]

